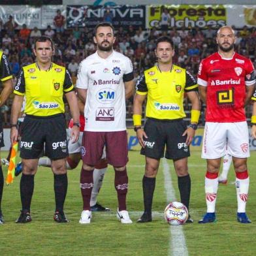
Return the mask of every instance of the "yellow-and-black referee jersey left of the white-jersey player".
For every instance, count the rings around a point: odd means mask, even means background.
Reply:
[[[25,114],[43,117],[64,113],[63,92],[73,89],[65,67],[52,63],[47,71],[42,71],[33,63],[22,67],[14,93],[25,95]]]

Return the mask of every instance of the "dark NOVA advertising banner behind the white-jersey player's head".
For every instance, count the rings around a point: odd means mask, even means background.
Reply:
[[[103,22],[105,8],[92,5],[67,5],[67,27],[95,27]],[[145,6],[110,7],[114,27],[145,27]]]

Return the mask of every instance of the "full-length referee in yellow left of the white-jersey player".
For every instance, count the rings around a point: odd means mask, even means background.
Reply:
[[[66,123],[64,116],[63,93],[71,108],[74,127],[71,138],[74,142],[79,136],[78,101],[74,92],[69,72],[65,67],[52,63],[54,44],[50,37],[35,40],[33,53],[37,62],[22,67],[14,87],[14,101],[11,113],[10,140],[18,139],[17,122],[24,96],[25,118],[21,128],[20,157],[22,157],[22,178],[20,180],[20,197],[22,211],[16,223],[31,221],[30,204],[34,189],[34,176],[41,152],[45,149],[52,161],[54,172],[54,192],[56,212],[54,220],[68,222],[63,212],[67,194],[67,149]]]

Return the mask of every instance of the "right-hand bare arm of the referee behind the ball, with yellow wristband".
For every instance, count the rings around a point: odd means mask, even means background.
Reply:
[[[187,97],[189,98],[189,101],[191,102],[191,105],[192,105],[192,107],[191,107],[191,123],[197,124],[198,120],[197,121],[193,120],[194,117],[193,117],[192,113],[193,113],[193,110],[195,110],[195,112],[197,114],[200,112],[199,94],[197,91],[188,91]],[[198,116],[198,118],[199,118],[199,116]],[[197,118],[195,118],[195,119],[197,119]],[[185,135],[187,135],[187,140],[185,143],[187,144],[187,146],[189,146],[193,140],[193,137],[195,136],[195,129],[193,129],[192,127],[188,127],[182,136],[185,136]]]

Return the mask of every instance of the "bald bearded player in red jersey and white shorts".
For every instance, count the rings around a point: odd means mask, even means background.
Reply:
[[[254,68],[248,58],[234,52],[236,37],[231,27],[221,27],[216,42],[218,52],[202,60],[198,74],[200,97],[206,103],[202,158],[207,159],[207,213],[199,223],[216,220],[217,176],[226,143],[236,172],[237,219],[240,223],[251,223],[246,216],[249,135],[244,105],[253,93]]]

